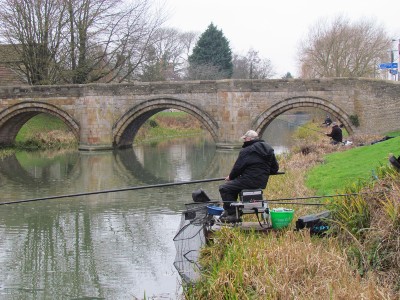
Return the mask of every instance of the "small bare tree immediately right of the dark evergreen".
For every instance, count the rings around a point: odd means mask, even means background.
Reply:
[[[258,51],[250,49],[245,56],[233,55],[233,75],[235,79],[268,79],[275,75],[269,59],[262,59]]]

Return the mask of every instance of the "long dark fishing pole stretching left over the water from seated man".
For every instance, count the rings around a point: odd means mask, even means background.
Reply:
[[[143,189],[150,189],[150,188],[167,187],[167,186],[184,185],[184,184],[194,184],[194,183],[202,183],[202,182],[212,182],[212,181],[220,181],[220,180],[225,180],[225,177],[202,179],[202,180],[193,180],[193,181],[178,181],[178,182],[143,185],[143,186],[131,186],[131,187],[126,187],[126,188],[118,188],[118,189],[110,189],[110,190],[83,192],[83,193],[66,194],[66,195],[58,195],[58,196],[48,196],[48,197],[41,197],[41,198],[32,198],[32,199],[25,199],[25,200],[0,202],[0,205],[26,203],[26,202],[34,202],[34,201],[42,201],[42,200],[60,199],[60,198],[81,197],[81,196],[106,194],[106,193],[116,193],[116,192],[133,191],[133,190],[143,190]]]

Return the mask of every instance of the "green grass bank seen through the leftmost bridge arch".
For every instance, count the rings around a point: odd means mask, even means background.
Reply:
[[[67,125],[57,117],[48,114],[38,114],[22,126],[15,140],[17,142],[23,142],[36,132],[48,132],[52,130],[68,131],[69,129]]]

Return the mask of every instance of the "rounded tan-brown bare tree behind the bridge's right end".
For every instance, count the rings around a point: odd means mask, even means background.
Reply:
[[[372,20],[351,23],[338,16],[330,23],[319,21],[300,44],[301,77],[372,77],[389,48],[385,29]]]

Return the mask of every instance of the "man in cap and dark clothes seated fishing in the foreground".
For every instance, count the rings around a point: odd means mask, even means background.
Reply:
[[[226,182],[219,186],[219,193],[224,202],[224,212],[220,217],[222,222],[236,218],[235,208],[230,205],[237,201],[242,190],[265,189],[269,175],[277,174],[279,170],[274,149],[259,139],[257,132],[249,130],[241,139],[242,150],[225,178]]]

